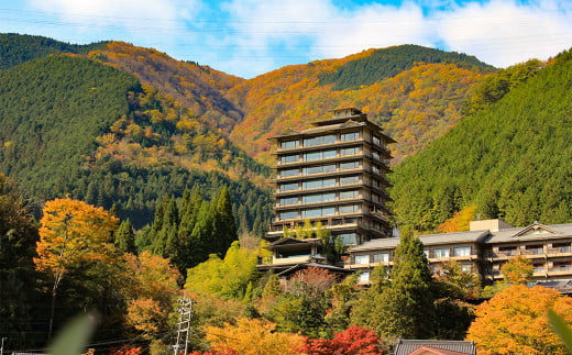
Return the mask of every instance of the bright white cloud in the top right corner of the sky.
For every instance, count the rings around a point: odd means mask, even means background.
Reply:
[[[572,46],[572,11],[556,1],[521,5],[507,1],[469,4],[431,20],[449,48],[506,67],[547,59]]]

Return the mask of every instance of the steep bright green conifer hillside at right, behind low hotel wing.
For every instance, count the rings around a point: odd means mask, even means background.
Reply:
[[[395,168],[402,225],[432,231],[471,206],[513,225],[570,222],[572,52],[535,73]]]

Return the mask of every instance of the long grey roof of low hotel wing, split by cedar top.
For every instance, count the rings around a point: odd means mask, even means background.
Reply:
[[[443,243],[475,243],[483,241],[491,232],[488,231],[470,231],[442,234],[419,235],[419,240],[424,245],[443,244]],[[386,237],[371,240],[362,245],[350,248],[350,252],[395,248],[399,244],[398,237]]]

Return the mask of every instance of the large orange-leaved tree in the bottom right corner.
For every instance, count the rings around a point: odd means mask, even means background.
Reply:
[[[513,285],[476,308],[466,340],[483,355],[568,354],[550,328],[548,309],[572,323],[572,298],[541,286]]]

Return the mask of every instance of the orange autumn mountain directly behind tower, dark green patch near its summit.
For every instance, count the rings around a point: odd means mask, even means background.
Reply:
[[[271,164],[266,138],[356,107],[398,142],[397,163],[453,126],[471,88],[491,71],[474,57],[411,45],[284,67],[229,90],[245,112],[231,138]]]

